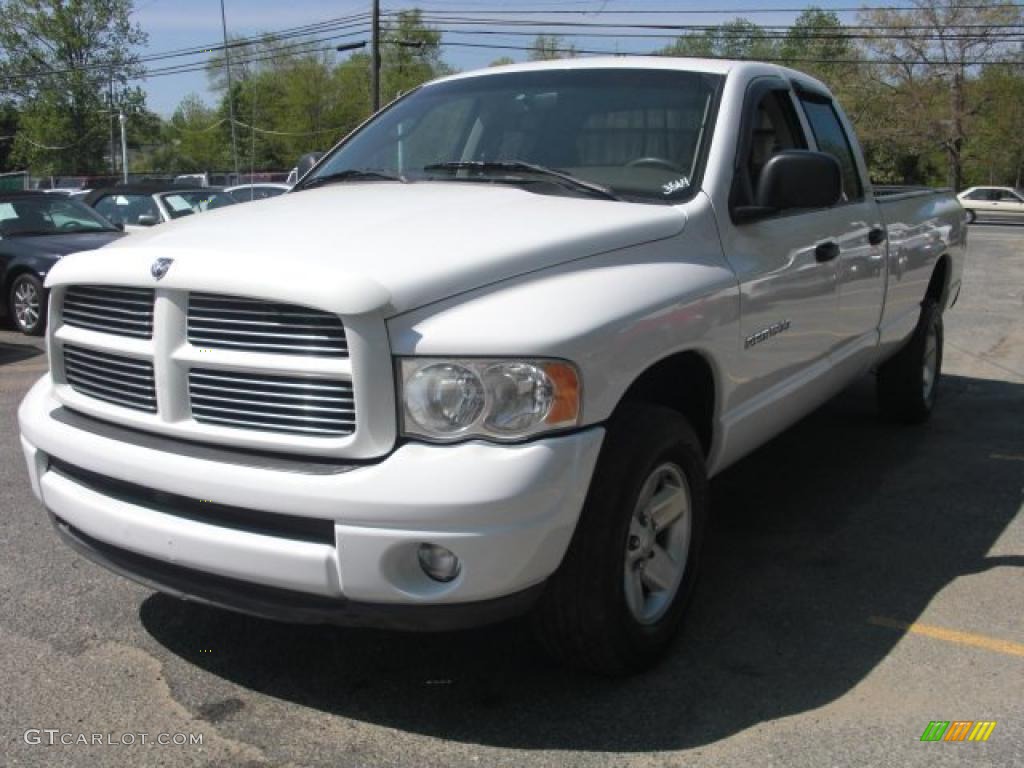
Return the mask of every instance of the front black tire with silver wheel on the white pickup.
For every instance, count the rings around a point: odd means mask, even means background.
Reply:
[[[703,452],[686,420],[660,407],[620,408],[534,615],[545,648],[604,675],[654,664],[689,604],[707,514]]]

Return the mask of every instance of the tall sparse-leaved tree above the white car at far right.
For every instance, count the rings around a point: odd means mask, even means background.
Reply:
[[[1007,57],[1021,7],[1001,0],[913,0],[913,10],[873,8],[861,25],[880,28],[866,47],[880,62],[890,120],[901,132],[941,148],[947,182],[964,185],[964,153],[980,98],[969,86],[977,61]]]

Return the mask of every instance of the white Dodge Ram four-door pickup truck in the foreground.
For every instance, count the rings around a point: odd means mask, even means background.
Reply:
[[[636,670],[690,600],[710,476],[871,371],[886,414],[929,416],[966,239],[950,194],[872,191],[798,72],[457,75],[281,198],[61,260],[32,485],[71,545],[172,595],[416,630],[531,612],[559,657]]]

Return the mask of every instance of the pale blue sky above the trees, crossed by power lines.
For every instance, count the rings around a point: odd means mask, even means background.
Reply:
[[[813,3],[823,8],[849,8],[859,5],[856,0],[817,0]],[[604,23],[621,23],[627,19],[649,24],[701,24],[713,25],[742,15],[753,22],[766,25],[790,24],[798,15],[790,12],[752,12],[764,8],[800,8],[810,5],[806,0],[422,0],[419,3],[394,0],[381,3],[384,10],[398,10],[419,7],[431,10],[459,10],[472,13],[474,10],[537,10],[530,18],[563,18],[559,15],[545,15],[544,10],[581,10],[592,15],[587,20],[600,19]],[[229,35],[251,36],[267,31],[298,27],[351,13],[368,12],[370,0],[224,0],[227,30]],[[651,10],[650,15],[622,13],[626,10]],[[711,13],[679,14],[664,11],[714,10]],[[617,12],[616,12],[617,11]],[[659,13],[658,11],[663,11]],[[737,12],[740,11],[740,12]],[[600,15],[597,15],[597,14]],[[854,14],[841,12],[843,20],[852,20]],[[216,45],[221,39],[219,0],[136,0],[134,19],[148,34],[148,45],[140,53],[157,53],[184,47]],[[573,20],[578,20],[574,17]],[[614,30],[605,30],[614,32]],[[447,36],[450,40],[483,42],[495,45],[528,45],[528,37],[466,37]],[[646,51],[658,48],[672,40],[665,39],[630,40],[622,38],[575,38],[570,42],[580,48],[597,50]],[[355,38],[361,39],[361,38]],[[342,42],[342,41],[338,41]],[[343,56],[345,54],[338,54]],[[494,59],[509,55],[517,60],[524,59],[522,51],[501,49],[463,48],[450,46],[444,49],[444,59],[458,70],[472,70],[486,67]],[[153,66],[193,62],[200,63],[202,57],[158,61]],[[189,92],[198,93],[208,103],[215,97],[207,87],[203,72],[182,73],[166,77],[151,78],[142,83],[147,93],[151,110],[167,117]]]

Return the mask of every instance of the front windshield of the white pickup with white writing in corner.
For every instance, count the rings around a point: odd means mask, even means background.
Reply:
[[[517,163],[569,174],[625,200],[677,202],[692,194],[700,172],[720,83],[718,76],[690,72],[594,69],[428,85],[336,147],[300,187],[362,171],[408,181],[505,181],[544,186],[548,194],[587,191],[507,165]]]

